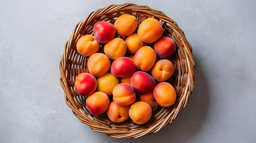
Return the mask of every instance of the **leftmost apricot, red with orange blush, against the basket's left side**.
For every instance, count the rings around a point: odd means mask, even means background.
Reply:
[[[76,77],[75,90],[81,96],[89,96],[97,88],[97,80],[89,73],[81,73]]]

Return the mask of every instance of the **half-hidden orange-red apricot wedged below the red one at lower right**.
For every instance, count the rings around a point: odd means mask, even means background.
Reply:
[[[138,100],[146,102],[151,107],[152,111],[155,111],[158,107],[158,103],[155,101],[153,91],[145,94],[139,94]]]

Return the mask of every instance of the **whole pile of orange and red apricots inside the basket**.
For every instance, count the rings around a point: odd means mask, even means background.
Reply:
[[[93,35],[77,41],[79,54],[89,57],[89,73],[79,74],[74,88],[79,95],[88,96],[86,106],[92,115],[107,112],[116,123],[130,117],[136,124],[144,124],[158,106],[175,103],[175,89],[164,82],[174,72],[168,57],[176,50],[175,41],[163,37],[162,25],[153,18],[137,26],[136,17],[123,14],[114,25],[97,22]],[[100,45],[104,53],[98,52]],[[162,60],[157,61],[157,55]]]

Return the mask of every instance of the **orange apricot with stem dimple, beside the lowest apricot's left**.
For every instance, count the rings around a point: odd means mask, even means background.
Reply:
[[[111,102],[107,110],[108,118],[115,122],[121,123],[129,118],[129,106],[120,106]]]

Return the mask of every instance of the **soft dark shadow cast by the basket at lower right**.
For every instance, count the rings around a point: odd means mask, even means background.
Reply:
[[[188,104],[173,121],[162,130],[154,134],[149,134],[138,139],[115,139],[105,134],[95,133],[99,140],[112,143],[170,143],[170,142],[190,142],[195,137],[204,124],[209,108],[209,83],[205,76],[204,67],[201,65],[200,55],[194,54],[195,60],[195,85],[189,98]]]

